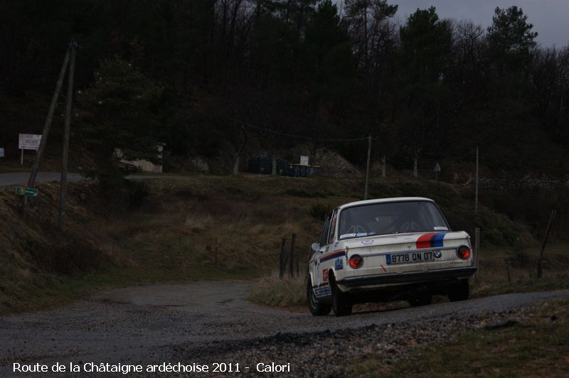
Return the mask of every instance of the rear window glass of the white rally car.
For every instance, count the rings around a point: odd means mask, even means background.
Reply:
[[[339,239],[448,230],[445,218],[430,201],[383,202],[342,210]]]

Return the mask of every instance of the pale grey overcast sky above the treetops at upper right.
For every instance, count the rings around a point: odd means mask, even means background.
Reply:
[[[395,16],[401,21],[418,8],[435,6],[440,18],[466,18],[484,28],[492,22],[496,6],[504,9],[515,5],[533,23],[533,31],[539,33],[538,43],[558,47],[569,44],[569,0],[388,0],[388,3],[399,5]]]

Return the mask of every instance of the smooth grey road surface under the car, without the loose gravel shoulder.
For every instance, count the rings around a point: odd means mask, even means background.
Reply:
[[[246,281],[156,284],[119,288],[55,311],[0,318],[0,376],[12,364],[110,362],[146,365],[169,361],[176,345],[199,350],[275,333],[314,333],[401,322],[425,322],[507,311],[569,291],[520,293],[438,303],[420,308],[313,317],[255,306]],[[197,349],[196,349],[197,348]]]

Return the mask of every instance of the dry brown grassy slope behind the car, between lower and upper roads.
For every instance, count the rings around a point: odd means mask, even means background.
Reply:
[[[277,268],[281,239],[297,234],[301,269],[328,209],[361,199],[363,180],[194,175],[137,183],[117,193],[73,183],[65,237],[56,231],[57,183],[39,185],[26,217],[0,190],[0,313],[53,306],[96,288],[149,281],[252,278]],[[132,194],[132,193],[131,193]],[[451,227],[482,227],[484,246],[536,244],[526,227],[485,207],[477,214],[452,185],[372,181],[371,198],[433,198]]]

